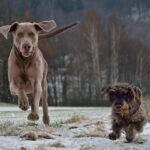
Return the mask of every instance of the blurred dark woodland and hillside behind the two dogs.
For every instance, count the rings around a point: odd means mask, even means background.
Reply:
[[[150,95],[149,0],[0,0],[0,26],[54,19],[66,33],[41,40],[51,106],[107,106],[100,89],[129,82]],[[0,35],[0,101],[17,103],[7,80],[11,38]]]

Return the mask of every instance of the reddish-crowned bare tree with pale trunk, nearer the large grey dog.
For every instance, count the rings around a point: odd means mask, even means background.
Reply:
[[[89,11],[85,15],[82,34],[87,40],[88,52],[91,54],[93,65],[93,76],[97,91],[101,88],[101,73],[100,73],[100,48],[101,48],[101,33],[102,24],[101,18],[95,11]],[[99,95],[99,94],[98,94]]]

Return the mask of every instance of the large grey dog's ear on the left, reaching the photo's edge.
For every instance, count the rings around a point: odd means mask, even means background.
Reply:
[[[8,33],[15,31],[18,24],[19,24],[18,22],[14,22],[11,25],[2,26],[2,27],[0,27],[0,33],[2,33],[3,36],[7,39]]]

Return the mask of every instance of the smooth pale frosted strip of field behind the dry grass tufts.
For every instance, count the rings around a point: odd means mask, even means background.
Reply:
[[[49,107],[49,116],[51,122],[60,122],[70,118],[73,115],[84,116],[88,118],[100,118],[109,115],[110,108],[106,107]],[[0,103],[0,120],[11,120],[17,123],[26,122],[28,111],[22,111],[16,105]],[[107,112],[107,113],[106,113]],[[42,108],[40,107],[40,121],[42,119]]]

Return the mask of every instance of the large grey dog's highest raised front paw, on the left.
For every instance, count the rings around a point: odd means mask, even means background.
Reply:
[[[19,99],[18,105],[19,105],[19,108],[22,109],[23,111],[26,111],[29,109],[29,101],[26,98]]]

